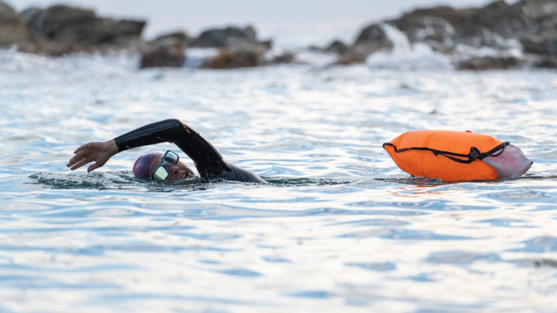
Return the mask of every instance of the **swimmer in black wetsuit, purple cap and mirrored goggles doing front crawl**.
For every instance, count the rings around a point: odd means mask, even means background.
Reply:
[[[87,168],[87,172],[91,172],[105,165],[112,156],[121,151],[158,143],[177,145],[193,160],[202,178],[266,183],[256,174],[228,163],[207,139],[177,119],[145,125],[104,143],[84,144],[74,151],[74,157],[66,166],[75,170],[94,162]],[[172,151],[139,156],[134,163],[133,173],[136,178],[147,180],[185,179],[194,175],[187,165],[179,162],[179,156]]]

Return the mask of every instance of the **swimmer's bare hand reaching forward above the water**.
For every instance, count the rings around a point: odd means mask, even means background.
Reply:
[[[84,144],[77,148],[74,153],[74,157],[70,159],[70,162],[68,162],[66,166],[74,170],[87,163],[95,162],[87,168],[87,172],[91,172],[105,165],[111,157],[117,154],[118,146],[116,146],[116,141],[114,141],[114,139],[110,139],[104,143]]]

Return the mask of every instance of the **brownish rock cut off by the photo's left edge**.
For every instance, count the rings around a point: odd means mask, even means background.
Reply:
[[[0,47],[11,47],[25,41],[25,20],[12,7],[0,1]]]

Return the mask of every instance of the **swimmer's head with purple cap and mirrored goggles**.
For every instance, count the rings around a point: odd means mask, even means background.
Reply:
[[[140,179],[150,179],[153,175],[153,171],[157,165],[160,164],[163,155],[164,153],[162,152],[151,152],[139,156],[134,163],[134,176]],[[178,162],[176,165],[164,164],[164,167],[167,168],[170,173],[168,179],[184,179],[194,175],[193,171],[182,162]]]

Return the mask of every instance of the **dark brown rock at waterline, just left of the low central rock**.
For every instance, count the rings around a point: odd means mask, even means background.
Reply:
[[[140,68],[182,67],[185,62],[185,47],[177,41],[165,41],[141,56]]]

